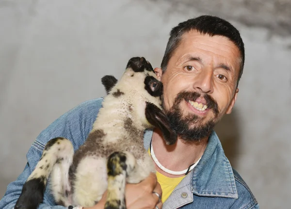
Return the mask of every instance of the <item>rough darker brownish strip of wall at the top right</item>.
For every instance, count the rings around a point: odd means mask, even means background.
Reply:
[[[199,11],[238,21],[249,27],[264,27],[280,35],[291,34],[290,0],[150,0],[166,2],[171,11]]]

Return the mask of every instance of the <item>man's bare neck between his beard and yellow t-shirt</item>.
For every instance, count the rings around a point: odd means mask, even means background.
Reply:
[[[178,138],[175,145],[166,145],[162,138],[162,132],[154,129],[152,136],[152,146],[158,161],[167,169],[172,171],[182,171],[189,168],[203,155],[208,143],[208,138],[197,142],[185,142]],[[181,177],[167,174],[155,165],[156,171],[166,177]]]

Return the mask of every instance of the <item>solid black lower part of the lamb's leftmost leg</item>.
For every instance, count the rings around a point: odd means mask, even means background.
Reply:
[[[39,204],[43,202],[44,192],[45,183],[43,178],[34,178],[27,181],[23,185],[15,209],[37,209]]]

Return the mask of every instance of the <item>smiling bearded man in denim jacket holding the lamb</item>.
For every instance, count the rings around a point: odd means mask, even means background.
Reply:
[[[163,105],[178,142],[166,145],[160,130],[146,131],[145,148],[156,163],[157,174],[127,185],[129,209],[259,208],[246,183],[231,168],[213,131],[223,115],[232,111],[243,65],[242,38],[229,22],[199,16],[173,28],[161,68],[154,70],[164,85]],[[40,133],[27,154],[23,173],[8,185],[0,208],[14,207],[49,139],[63,136],[75,149],[84,142],[101,102],[102,98],[82,103]],[[105,196],[92,209],[104,207]],[[46,191],[39,208],[65,208],[54,205]]]

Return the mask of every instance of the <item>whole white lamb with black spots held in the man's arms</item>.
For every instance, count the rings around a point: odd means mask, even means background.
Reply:
[[[162,111],[162,83],[145,58],[131,58],[119,81],[113,76],[101,81],[107,96],[85,143],[74,153],[68,139],[51,139],[15,209],[36,209],[47,186],[65,207],[92,207],[107,190],[105,209],[125,209],[126,183],[155,172],[143,144],[145,129],[158,127],[167,144],[176,142]]]

